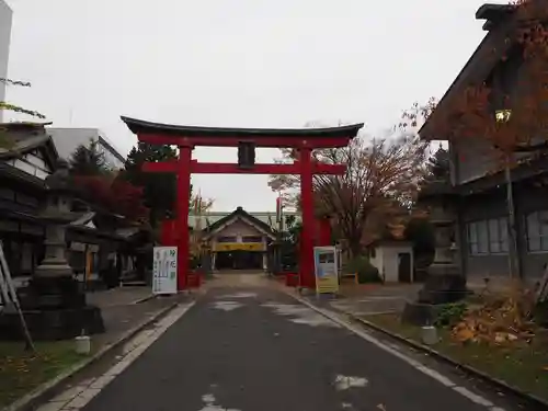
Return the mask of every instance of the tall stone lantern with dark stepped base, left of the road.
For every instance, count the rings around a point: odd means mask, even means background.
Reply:
[[[67,261],[67,225],[80,215],[71,212],[73,187],[68,163],[59,160],[46,181],[47,204],[39,218],[46,228],[45,258],[36,267],[30,285],[21,290],[21,307],[34,340],[64,340],[104,332],[101,310],[85,302],[82,284]],[[4,339],[21,339],[19,319],[0,319]]]

